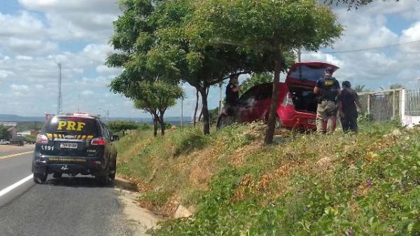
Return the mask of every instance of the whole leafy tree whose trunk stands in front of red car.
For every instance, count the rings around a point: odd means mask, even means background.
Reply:
[[[332,44],[342,34],[342,26],[327,6],[312,0],[209,0],[197,3],[191,29],[203,41],[235,45],[237,50],[272,57],[274,71],[272,105],[265,143],[274,136],[278,83],[284,53],[295,48],[318,50]]]

